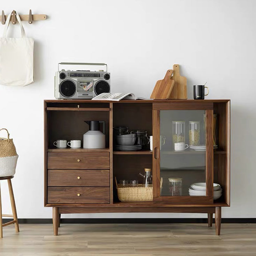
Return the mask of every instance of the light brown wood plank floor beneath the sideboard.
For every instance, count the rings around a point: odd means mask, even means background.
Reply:
[[[1,256],[255,256],[256,224],[50,224],[3,228]]]

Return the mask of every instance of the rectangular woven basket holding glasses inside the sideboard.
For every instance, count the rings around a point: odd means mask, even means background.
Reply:
[[[116,177],[115,177],[116,181]],[[116,181],[117,196],[121,202],[128,201],[153,201],[153,186],[143,187],[120,187]]]

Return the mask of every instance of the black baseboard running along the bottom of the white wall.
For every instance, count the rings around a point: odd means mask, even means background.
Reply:
[[[3,223],[13,219],[3,219]],[[52,219],[18,219],[19,224],[52,224]],[[215,219],[213,219],[215,222]],[[207,218],[63,218],[67,224],[114,224],[114,223],[207,223]],[[222,223],[256,223],[256,218],[222,218]]]

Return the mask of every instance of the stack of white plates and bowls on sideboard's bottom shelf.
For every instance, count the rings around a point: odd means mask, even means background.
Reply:
[[[222,196],[222,188],[219,184],[214,183],[214,200],[217,200]],[[199,195],[205,196],[206,195],[206,183],[193,183],[188,189],[189,195]]]

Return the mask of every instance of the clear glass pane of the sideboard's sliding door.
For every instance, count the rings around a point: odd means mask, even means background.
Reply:
[[[160,110],[160,196],[203,194],[189,188],[205,183],[205,144],[205,110]]]

